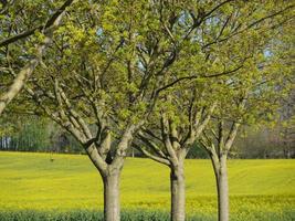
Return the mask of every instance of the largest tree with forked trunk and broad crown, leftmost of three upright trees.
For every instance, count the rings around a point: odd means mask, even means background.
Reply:
[[[105,220],[117,221],[127,150],[169,87],[169,70],[180,62],[177,56],[194,22],[182,25],[182,3],[75,6],[21,99],[36,105],[35,112],[51,117],[84,147],[102,176]]]

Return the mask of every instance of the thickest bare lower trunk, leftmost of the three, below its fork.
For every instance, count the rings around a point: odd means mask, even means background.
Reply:
[[[106,175],[104,181],[104,220],[119,221],[119,177],[120,172]]]

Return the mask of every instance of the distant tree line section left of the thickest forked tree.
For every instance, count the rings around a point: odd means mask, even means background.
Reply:
[[[38,116],[4,122],[0,133],[0,149],[10,151],[81,152],[83,149],[72,136],[54,123]]]

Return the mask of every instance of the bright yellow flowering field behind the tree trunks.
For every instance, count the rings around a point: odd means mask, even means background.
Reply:
[[[102,210],[101,177],[88,158],[53,155],[51,161],[51,157],[0,152],[2,218],[9,220],[9,213],[20,211],[41,215]],[[232,220],[295,220],[295,160],[230,160],[229,176]],[[187,160],[186,179],[188,214],[214,220],[215,187],[210,160]],[[169,170],[149,159],[127,158],[120,191],[123,211],[167,214]]]

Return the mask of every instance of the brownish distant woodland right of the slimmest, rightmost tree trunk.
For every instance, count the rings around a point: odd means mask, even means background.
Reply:
[[[273,127],[244,127],[232,155],[240,158],[295,158],[295,91],[281,102]]]

